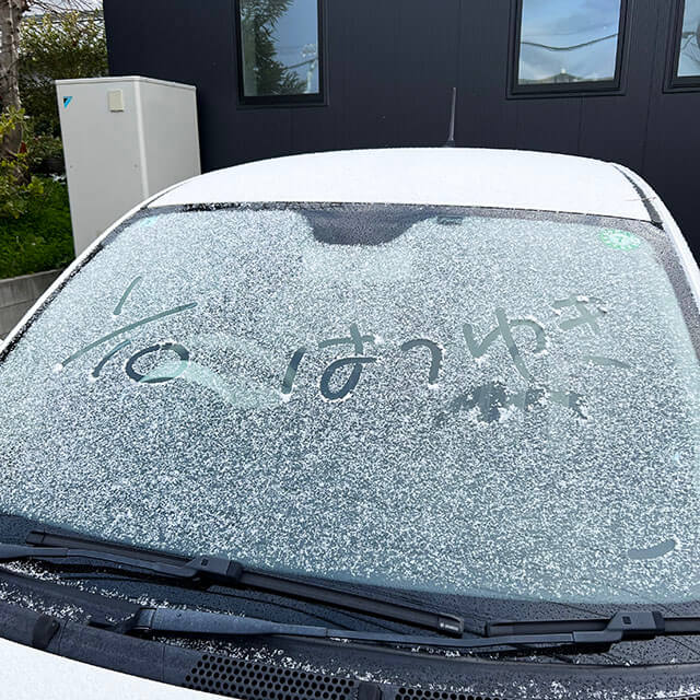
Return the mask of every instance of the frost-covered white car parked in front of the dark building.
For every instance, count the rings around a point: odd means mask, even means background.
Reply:
[[[196,178],[105,234],[8,338],[0,541],[217,555],[454,614],[466,638],[699,615],[698,279],[649,186],[596,161],[368,151]],[[8,640],[244,700],[700,692],[692,634],[143,639],[120,623],[135,605],[417,630],[89,557],[9,565]]]

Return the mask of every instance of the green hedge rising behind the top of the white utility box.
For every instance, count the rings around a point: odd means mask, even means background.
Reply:
[[[20,37],[20,94],[37,133],[58,137],[55,80],[107,74],[107,44],[100,12],[26,16]]]

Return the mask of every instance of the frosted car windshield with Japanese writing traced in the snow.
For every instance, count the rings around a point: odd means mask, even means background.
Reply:
[[[0,510],[392,588],[700,595],[667,234],[509,210],[145,210],[0,363]]]

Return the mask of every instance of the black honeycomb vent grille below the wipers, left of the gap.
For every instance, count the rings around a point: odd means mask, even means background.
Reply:
[[[241,700],[354,700],[360,681],[205,654],[183,685]]]

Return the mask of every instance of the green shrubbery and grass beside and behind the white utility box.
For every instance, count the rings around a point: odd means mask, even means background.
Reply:
[[[66,184],[36,174],[65,170],[54,81],[106,73],[100,13],[23,20],[20,90],[32,118],[18,109],[0,115],[0,144],[7,154],[0,160],[0,278],[65,267],[73,258]]]

